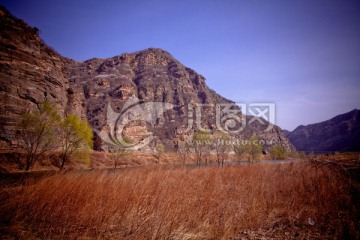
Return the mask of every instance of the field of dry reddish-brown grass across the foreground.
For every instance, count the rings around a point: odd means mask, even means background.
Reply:
[[[0,194],[2,239],[359,238],[354,183],[310,162],[74,172]]]

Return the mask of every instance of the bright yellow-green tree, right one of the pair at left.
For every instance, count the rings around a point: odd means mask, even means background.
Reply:
[[[68,115],[59,125],[59,137],[60,162],[55,165],[60,170],[76,154],[85,159],[89,157],[93,134],[87,121],[72,114]]]

